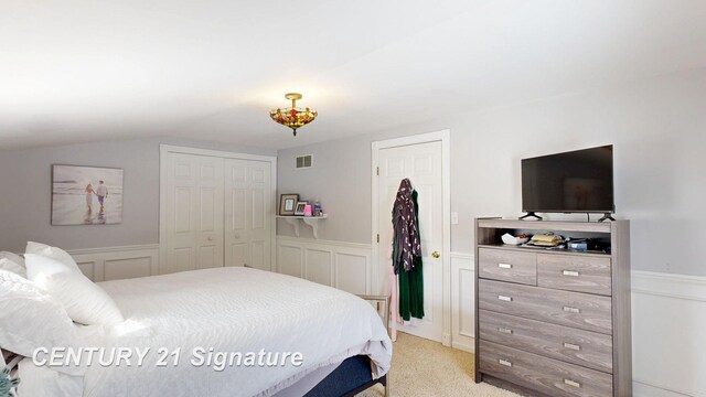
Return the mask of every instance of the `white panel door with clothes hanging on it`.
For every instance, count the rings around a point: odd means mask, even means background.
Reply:
[[[443,190],[441,142],[428,142],[378,152],[378,230],[379,264],[392,266],[389,247],[393,224],[392,212],[399,183],[408,178],[418,192],[419,228],[421,237],[424,311],[422,320],[398,330],[441,342],[443,334],[443,267],[445,258],[435,258],[432,253],[443,251]],[[382,279],[387,273],[382,269]],[[388,282],[388,281],[386,281]]]

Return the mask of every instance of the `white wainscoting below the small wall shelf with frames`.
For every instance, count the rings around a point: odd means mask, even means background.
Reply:
[[[351,293],[371,293],[368,244],[277,236],[277,271]]]

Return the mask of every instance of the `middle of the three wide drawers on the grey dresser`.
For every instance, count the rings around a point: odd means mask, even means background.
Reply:
[[[612,337],[481,310],[481,340],[612,373]]]

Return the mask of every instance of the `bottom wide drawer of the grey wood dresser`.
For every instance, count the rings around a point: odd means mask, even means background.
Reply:
[[[480,341],[480,369],[547,396],[612,396],[612,375]]]

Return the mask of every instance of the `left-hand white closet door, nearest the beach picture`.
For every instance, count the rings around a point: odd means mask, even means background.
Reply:
[[[164,272],[223,266],[223,159],[168,154]]]

